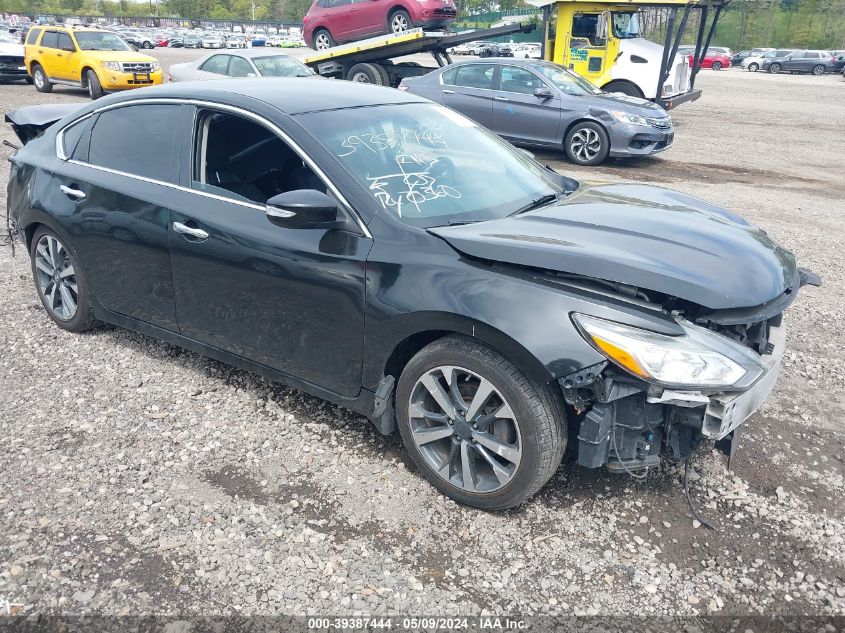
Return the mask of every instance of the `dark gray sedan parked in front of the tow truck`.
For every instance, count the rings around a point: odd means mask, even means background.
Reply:
[[[458,62],[405,79],[399,89],[449,106],[517,145],[563,149],[578,165],[656,154],[674,136],[660,106],[604,93],[567,68],[533,59]]]

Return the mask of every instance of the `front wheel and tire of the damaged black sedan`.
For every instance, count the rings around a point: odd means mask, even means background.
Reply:
[[[396,410],[402,441],[426,479],[476,508],[524,503],[566,448],[560,395],[464,336],[439,339],[411,359]]]

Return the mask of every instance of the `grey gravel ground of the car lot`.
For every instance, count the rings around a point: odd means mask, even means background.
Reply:
[[[696,456],[694,495],[718,531],[691,520],[670,466],[638,483],[569,458],[516,511],[458,506],[357,415],[127,331],[58,329],[26,253],[0,247],[0,605],[845,615],[845,82],[732,70],[699,85],[657,158],[541,158],[738,211],[824,280],[789,310],[784,371],[734,471],[710,445]],[[3,111],[85,100],[0,87]]]

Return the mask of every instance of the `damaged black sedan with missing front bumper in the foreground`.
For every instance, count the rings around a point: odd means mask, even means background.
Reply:
[[[59,327],[131,328],[398,427],[478,507],[528,499],[568,438],[579,464],[634,472],[732,437],[818,283],[729,211],[578,183],[389,88],[243,79],[77,107],[7,115],[44,130],[11,159],[9,214]]]

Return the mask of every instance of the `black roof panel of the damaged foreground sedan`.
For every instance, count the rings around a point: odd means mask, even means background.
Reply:
[[[177,82],[131,90],[112,98],[121,103],[137,99],[166,98],[213,102],[220,100],[223,95],[228,95],[230,99],[234,98],[231,99],[233,101],[242,101],[244,98],[261,101],[285,114],[292,115],[376,105],[429,103],[428,99],[393,88],[337,79],[321,80],[314,77],[261,77]]]

